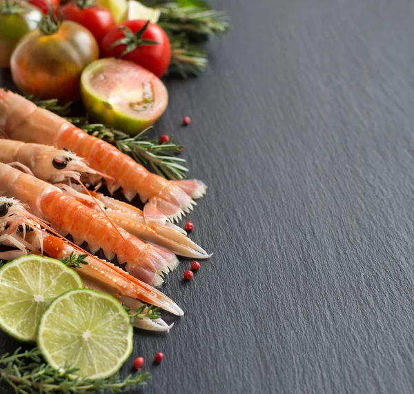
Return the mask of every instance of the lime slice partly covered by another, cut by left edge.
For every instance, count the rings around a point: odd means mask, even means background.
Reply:
[[[79,275],[55,259],[28,255],[0,269],[0,326],[21,341],[35,341],[40,317],[50,302],[72,288]]]

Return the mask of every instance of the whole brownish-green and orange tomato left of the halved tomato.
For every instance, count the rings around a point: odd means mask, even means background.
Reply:
[[[46,23],[23,37],[10,60],[12,79],[25,94],[60,102],[79,98],[81,72],[98,59],[92,33],[72,21]]]

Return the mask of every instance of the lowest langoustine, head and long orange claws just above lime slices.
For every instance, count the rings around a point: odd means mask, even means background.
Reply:
[[[52,230],[41,219],[28,213],[16,199],[0,197],[0,244],[12,247],[12,250],[0,252],[0,259],[13,259],[28,253],[46,253],[56,259],[72,254],[86,255],[87,264],[74,268],[85,286],[108,293],[135,310],[143,305],[142,301],[174,315],[184,315],[172,299],[155,288],[135,279],[121,268],[86,253],[63,237],[47,233],[44,228]],[[167,331],[171,327],[161,319],[154,321],[148,318],[135,320],[135,326],[152,331]]]

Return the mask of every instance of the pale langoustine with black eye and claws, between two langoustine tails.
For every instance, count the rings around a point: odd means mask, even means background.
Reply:
[[[69,182],[70,179],[90,181],[97,173],[86,164],[85,160],[72,152],[59,150],[52,146],[42,144],[30,144],[12,139],[0,139],[0,163],[21,168],[35,177],[52,184]],[[99,176],[99,175],[98,175]],[[186,237],[186,232],[181,228],[166,222],[157,224],[144,218],[144,213],[124,202],[101,193],[89,192],[77,193],[73,184],[57,184],[61,190],[71,195],[99,213],[105,209],[106,215],[118,226],[127,230],[144,242],[161,246],[176,255],[194,259],[206,259],[210,257],[206,250]],[[78,188],[78,190],[79,190]],[[101,201],[101,204],[99,204]]]

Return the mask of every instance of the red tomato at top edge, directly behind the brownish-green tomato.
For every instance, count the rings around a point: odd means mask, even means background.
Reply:
[[[101,42],[106,32],[115,26],[112,14],[100,6],[83,6],[84,1],[73,1],[61,7],[63,19],[74,21],[87,28]]]

